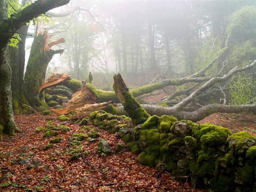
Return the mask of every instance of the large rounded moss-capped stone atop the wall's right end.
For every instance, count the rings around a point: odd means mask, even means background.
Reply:
[[[246,131],[241,131],[239,133],[232,134],[228,139],[229,147],[232,151],[236,153],[243,153],[250,146],[254,145],[255,137]]]

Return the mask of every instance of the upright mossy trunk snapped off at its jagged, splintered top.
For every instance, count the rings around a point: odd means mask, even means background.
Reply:
[[[63,49],[57,51],[49,49],[45,51],[46,35],[44,32],[35,36],[26,67],[22,88],[22,102],[30,106],[47,106],[44,101],[44,93],[39,94],[38,87],[44,83],[47,66],[53,55],[63,52]]]

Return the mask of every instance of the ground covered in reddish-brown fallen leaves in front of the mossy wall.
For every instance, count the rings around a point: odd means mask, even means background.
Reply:
[[[55,115],[35,113],[15,116],[21,133],[0,140],[0,191],[203,191],[193,189],[186,181],[174,180],[166,173],[157,177],[156,169],[140,165],[137,155],[127,149],[109,156],[100,154],[97,143],[101,138],[108,140],[113,151],[122,140],[93,126],[82,130],[79,125],[68,123],[70,132],[58,134],[64,140],[43,151],[50,139],[44,139],[44,132],[36,133],[35,129],[45,127],[49,120],[55,125],[61,124]],[[100,137],[96,143],[82,141],[81,150],[87,155],[70,162],[68,137],[77,132],[89,135],[92,129],[96,129]]]

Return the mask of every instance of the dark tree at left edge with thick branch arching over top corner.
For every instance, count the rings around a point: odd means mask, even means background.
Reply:
[[[0,130],[12,135],[18,131],[12,110],[12,71],[9,64],[8,43],[20,27],[45,12],[69,3],[69,0],[38,0],[20,10],[13,17],[7,15],[7,0],[0,1]]]

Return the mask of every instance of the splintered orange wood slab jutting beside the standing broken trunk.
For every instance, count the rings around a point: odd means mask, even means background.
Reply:
[[[70,78],[70,75],[69,74],[59,74],[59,73],[53,73],[52,75],[50,75],[48,77],[48,79],[43,83],[41,84],[41,86],[38,88],[39,90],[39,93],[46,89],[47,87],[51,87],[51,86],[54,86],[54,85],[57,85],[59,84],[60,82],[62,81],[65,81],[67,78]]]

